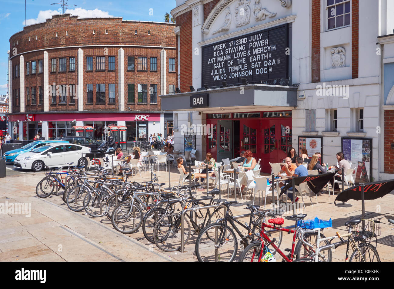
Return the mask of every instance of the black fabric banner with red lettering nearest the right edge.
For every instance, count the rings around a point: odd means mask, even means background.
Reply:
[[[375,200],[379,197],[387,195],[394,190],[394,180],[381,180],[366,183],[364,186],[364,199]],[[357,185],[340,192],[334,201],[346,202],[349,200],[361,200],[361,186]]]

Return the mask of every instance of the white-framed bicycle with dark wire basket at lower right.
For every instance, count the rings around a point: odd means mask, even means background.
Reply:
[[[336,232],[336,236],[320,238],[320,229],[314,230],[306,230],[304,233],[317,233],[317,238],[320,241],[330,240],[330,244],[320,247],[320,242],[318,242],[318,247],[316,248],[313,254],[306,256],[304,258],[300,258],[295,260],[297,262],[316,262],[318,261],[318,256],[323,251],[331,251],[332,249],[336,249],[341,245],[346,244],[346,257],[345,261],[348,260],[349,257],[349,247],[353,250],[349,258],[349,262],[380,262],[379,254],[376,250],[377,240],[376,237],[380,236],[380,220],[381,218],[370,218],[370,219],[361,219],[361,218],[353,218],[345,223],[347,226],[348,233],[344,235],[340,235],[339,232]],[[393,221],[394,223],[394,221]],[[348,237],[347,240],[344,240],[343,237]],[[340,242],[331,243],[333,239],[339,238]],[[371,245],[371,239],[375,238],[376,246]],[[369,240],[369,241],[368,241]],[[301,234],[300,241],[310,247],[310,244],[305,241],[303,235]],[[350,245],[350,246],[349,246]]]

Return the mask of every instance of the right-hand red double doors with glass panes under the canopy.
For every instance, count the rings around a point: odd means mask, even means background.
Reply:
[[[269,163],[282,162],[292,146],[291,118],[276,118],[262,120],[261,171],[271,173]]]

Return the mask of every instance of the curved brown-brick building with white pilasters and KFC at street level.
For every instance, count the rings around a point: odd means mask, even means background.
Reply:
[[[177,85],[174,24],[53,15],[9,39],[9,131],[32,140],[126,125],[127,141],[166,135],[159,95]]]

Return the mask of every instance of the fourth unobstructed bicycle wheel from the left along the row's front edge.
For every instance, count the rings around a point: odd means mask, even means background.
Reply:
[[[117,206],[111,217],[112,226],[118,232],[131,234],[142,224],[142,212],[135,204],[123,203]]]

